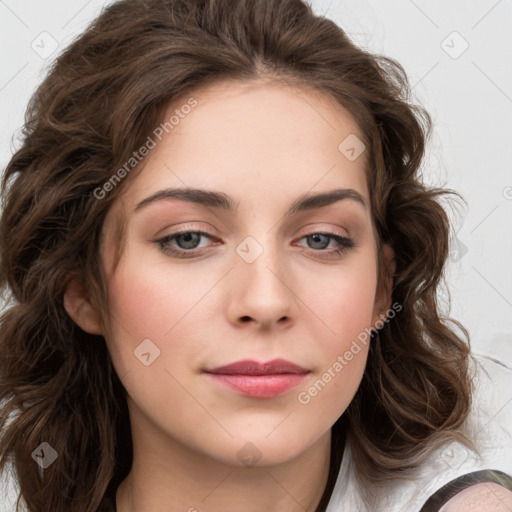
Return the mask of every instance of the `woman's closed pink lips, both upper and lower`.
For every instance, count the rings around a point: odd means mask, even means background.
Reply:
[[[273,398],[299,385],[310,373],[284,359],[267,363],[244,360],[219,366],[205,373],[224,388],[251,398]]]

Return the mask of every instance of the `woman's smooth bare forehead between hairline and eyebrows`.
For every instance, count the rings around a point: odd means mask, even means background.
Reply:
[[[183,108],[191,98],[195,107]],[[129,212],[159,189],[178,186],[222,191],[242,206],[283,191],[295,199],[345,187],[367,197],[366,151],[354,160],[342,151],[346,140],[362,142],[360,128],[318,90],[227,80],[173,101],[161,122],[161,140],[153,137],[155,147],[127,184]]]

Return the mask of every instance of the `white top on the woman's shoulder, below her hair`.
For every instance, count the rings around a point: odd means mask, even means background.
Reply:
[[[512,477],[512,368],[487,356],[473,354],[475,392],[465,428],[480,451],[452,442],[433,452],[412,480],[395,480],[373,489],[378,510],[420,512],[425,501],[451,480],[480,470],[498,470]],[[373,512],[361,499],[350,470],[350,436],[327,512]]]

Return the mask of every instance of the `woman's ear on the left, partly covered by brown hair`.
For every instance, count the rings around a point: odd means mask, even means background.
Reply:
[[[100,317],[92,306],[81,280],[68,275],[66,291],[64,292],[64,309],[73,321],[89,334],[103,335]]]

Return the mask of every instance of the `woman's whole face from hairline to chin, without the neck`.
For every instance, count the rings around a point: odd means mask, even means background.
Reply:
[[[223,82],[193,98],[166,113],[180,113],[169,133],[150,134],[107,216],[107,343],[134,435],[275,464],[329,434],[389,307],[376,297],[367,155],[347,111],[304,89]],[[276,359],[299,369],[263,365]]]

